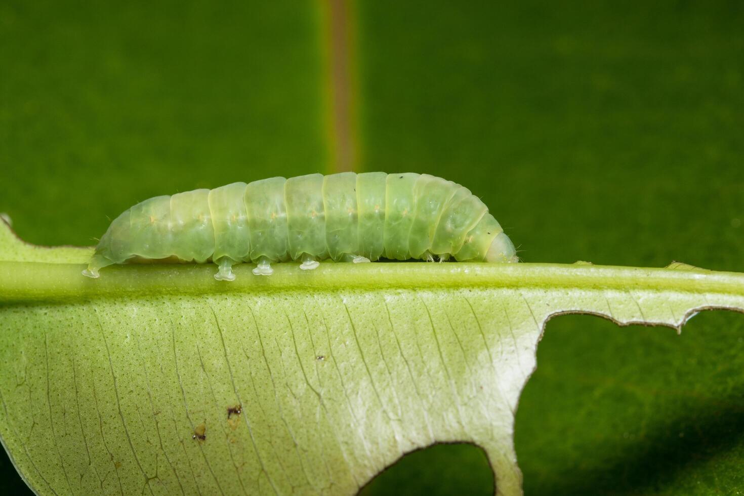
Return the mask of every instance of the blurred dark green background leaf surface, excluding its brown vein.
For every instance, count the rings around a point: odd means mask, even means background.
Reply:
[[[29,242],[94,244],[150,196],[333,172],[332,4],[0,1],[0,212]],[[744,271],[742,2],[347,7],[355,170],[466,185],[525,262]],[[681,336],[565,316],[538,364],[527,495],[744,490],[743,315]],[[365,492],[492,483],[443,445]]]

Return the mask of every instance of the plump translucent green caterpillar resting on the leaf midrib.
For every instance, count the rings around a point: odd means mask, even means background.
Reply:
[[[83,271],[129,260],[176,258],[214,262],[217,280],[234,280],[232,265],[318,260],[517,262],[514,245],[470,191],[428,174],[340,173],[237,182],[214,190],[155,196],[109,226]]]

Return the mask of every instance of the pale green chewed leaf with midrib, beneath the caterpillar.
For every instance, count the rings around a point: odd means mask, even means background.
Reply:
[[[514,413],[549,318],[680,329],[744,311],[744,274],[679,265],[244,264],[229,284],[212,265],[126,265],[90,280],[78,253],[27,262],[1,239],[0,433],[40,494],[350,494],[458,441],[484,448],[498,494],[520,494]]]

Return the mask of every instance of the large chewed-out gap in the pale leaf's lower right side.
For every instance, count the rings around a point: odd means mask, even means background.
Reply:
[[[734,494],[742,336],[734,312],[701,312],[682,335],[589,315],[549,321],[516,415],[525,494]]]

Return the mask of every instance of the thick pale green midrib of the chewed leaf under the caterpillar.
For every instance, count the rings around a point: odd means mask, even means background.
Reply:
[[[548,263],[323,263],[302,271],[275,264],[269,277],[237,265],[237,280],[214,280],[214,265],[122,265],[91,280],[84,265],[0,262],[0,303],[157,294],[235,294],[340,289],[582,289],[725,293],[744,296],[744,274],[670,268]]]

